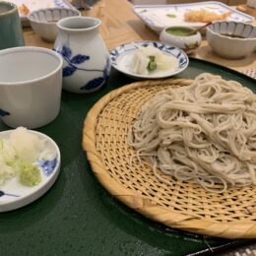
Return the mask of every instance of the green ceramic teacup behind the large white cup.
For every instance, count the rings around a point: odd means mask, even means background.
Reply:
[[[23,30],[17,6],[0,1],[0,49],[23,45]]]

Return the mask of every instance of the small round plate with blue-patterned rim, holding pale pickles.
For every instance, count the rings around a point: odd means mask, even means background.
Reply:
[[[112,67],[124,73],[125,75],[136,79],[160,79],[174,76],[185,70],[185,68],[188,66],[188,56],[184,51],[177,47],[167,45],[158,41],[136,41],[136,44],[141,46],[153,45],[159,48],[164,54],[175,57],[179,63],[178,68],[176,70],[156,70],[151,72],[150,75],[138,75],[135,73],[131,73],[131,58],[134,51],[137,50],[134,42],[121,44],[120,46],[110,51]]]

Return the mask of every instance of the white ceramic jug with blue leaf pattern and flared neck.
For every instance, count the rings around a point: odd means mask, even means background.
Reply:
[[[68,17],[57,23],[53,50],[64,60],[64,90],[76,94],[91,93],[108,80],[111,63],[98,33],[100,24],[100,20],[91,17]]]

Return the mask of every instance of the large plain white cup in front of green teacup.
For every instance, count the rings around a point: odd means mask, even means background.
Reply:
[[[53,50],[25,46],[0,51],[0,117],[13,128],[38,128],[60,110],[63,60]]]

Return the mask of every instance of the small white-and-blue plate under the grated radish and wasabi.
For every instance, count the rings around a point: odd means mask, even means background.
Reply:
[[[12,130],[0,132],[0,138],[8,138]],[[42,196],[55,182],[60,169],[60,151],[56,143],[48,136],[29,130],[39,138],[46,140],[45,147],[56,152],[54,160],[43,160],[37,163],[41,172],[41,181],[33,187],[27,187],[14,177],[0,187],[0,212],[15,210],[32,203]]]

